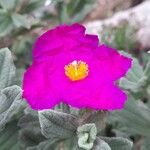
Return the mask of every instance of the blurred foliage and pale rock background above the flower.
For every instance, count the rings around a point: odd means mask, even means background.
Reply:
[[[150,48],[150,2],[144,0],[0,0],[0,48],[12,50],[20,74],[31,64],[39,35],[74,22],[137,57]]]

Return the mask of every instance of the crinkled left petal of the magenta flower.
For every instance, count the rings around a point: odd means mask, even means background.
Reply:
[[[24,74],[23,97],[33,109],[52,108],[60,102],[58,89],[50,77],[50,67],[47,63],[33,63]]]

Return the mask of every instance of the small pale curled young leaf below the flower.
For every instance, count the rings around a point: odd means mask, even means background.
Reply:
[[[94,123],[79,126],[78,129],[78,145],[80,148],[90,150],[96,139],[97,129]]]

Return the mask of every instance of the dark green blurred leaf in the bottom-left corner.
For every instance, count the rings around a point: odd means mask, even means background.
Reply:
[[[16,121],[6,125],[6,128],[0,132],[1,150],[19,150],[18,130]]]

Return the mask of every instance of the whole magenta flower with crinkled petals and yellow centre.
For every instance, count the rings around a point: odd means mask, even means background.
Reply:
[[[127,95],[116,85],[132,60],[98,44],[80,24],[61,25],[41,35],[24,74],[23,97],[33,109],[64,102],[77,108],[122,109]]]

